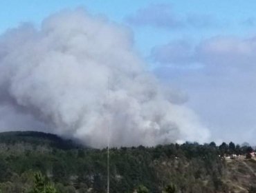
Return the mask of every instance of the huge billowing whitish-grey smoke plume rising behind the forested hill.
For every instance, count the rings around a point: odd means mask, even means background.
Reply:
[[[95,148],[107,145],[107,125],[112,146],[207,140],[177,96],[147,72],[129,30],[84,10],[0,37],[1,130],[53,132]]]

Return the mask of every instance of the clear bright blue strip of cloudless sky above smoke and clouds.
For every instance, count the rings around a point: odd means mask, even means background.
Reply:
[[[156,5],[170,6],[170,13],[176,19],[185,19],[188,15],[210,17],[209,26],[205,28],[154,28],[154,26],[129,25],[126,18],[136,14],[140,9]],[[193,39],[199,41],[217,34],[244,36],[253,34],[253,21],[256,18],[255,1],[1,1],[0,32],[15,27],[21,22],[39,24],[45,17],[64,8],[83,6],[93,14],[104,14],[111,21],[129,25],[134,31],[136,47],[145,56],[152,46],[165,43],[172,39]],[[252,20],[250,23],[250,19]],[[205,19],[207,20],[207,19]],[[248,23],[242,24],[244,21]],[[212,23],[211,23],[212,22]],[[251,25],[250,25],[251,24]]]

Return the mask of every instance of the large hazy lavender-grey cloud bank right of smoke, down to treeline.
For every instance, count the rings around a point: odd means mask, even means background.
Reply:
[[[176,54],[175,47],[183,53]],[[214,139],[255,143],[255,37],[213,37],[193,46],[171,42],[152,53],[158,77],[188,92],[190,107],[203,117]],[[202,68],[184,68],[184,63],[201,63]]]

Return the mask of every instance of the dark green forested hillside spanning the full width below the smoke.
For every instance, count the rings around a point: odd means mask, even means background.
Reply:
[[[234,143],[111,148],[110,192],[256,192],[252,151]],[[1,133],[0,192],[30,192],[37,171],[57,192],[106,192],[107,150],[42,132]]]

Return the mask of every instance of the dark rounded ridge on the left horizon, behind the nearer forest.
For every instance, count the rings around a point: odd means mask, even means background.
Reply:
[[[14,145],[15,143],[30,143],[32,145],[48,145],[51,148],[71,150],[83,148],[83,146],[71,139],[63,139],[56,134],[34,132],[34,131],[13,131],[1,132],[0,143]]]

